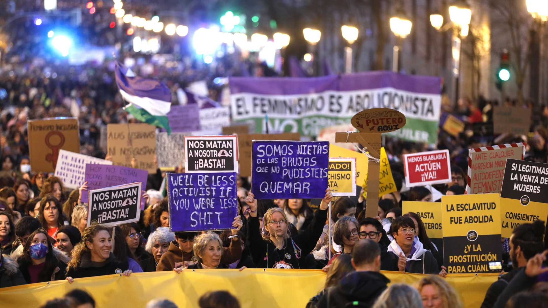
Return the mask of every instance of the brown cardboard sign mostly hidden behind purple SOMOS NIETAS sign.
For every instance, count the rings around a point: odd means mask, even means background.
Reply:
[[[251,176],[251,153],[253,140],[301,140],[298,132],[284,133],[250,133],[249,135],[238,135],[239,149],[239,175],[242,177]]]

